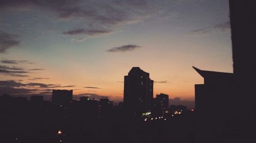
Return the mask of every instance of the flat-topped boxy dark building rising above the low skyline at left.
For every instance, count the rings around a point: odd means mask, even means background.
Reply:
[[[52,103],[59,104],[72,101],[73,90],[52,90]]]

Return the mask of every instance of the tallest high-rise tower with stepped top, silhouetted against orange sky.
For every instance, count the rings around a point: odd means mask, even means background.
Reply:
[[[127,112],[140,115],[150,111],[153,99],[153,83],[150,74],[139,67],[133,67],[124,76],[123,104]]]

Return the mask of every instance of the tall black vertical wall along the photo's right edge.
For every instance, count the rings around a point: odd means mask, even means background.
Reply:
[[[256,128],[256,10],[255,1],[229,1],[233,72],[236,94],[233,97],[234,126],[240,136],[254,137]],[[238,108],[235,105],[240,105]],[[236,135],[238,136],[238,135]]]

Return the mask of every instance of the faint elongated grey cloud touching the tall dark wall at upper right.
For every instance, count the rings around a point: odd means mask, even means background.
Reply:
[[[209,28],[201,28],[199,30],[191,31],[188,35],[205,35],[214,32],[226,32],[230,30],[230,21],[226,21],[224,23],[219,23]]]

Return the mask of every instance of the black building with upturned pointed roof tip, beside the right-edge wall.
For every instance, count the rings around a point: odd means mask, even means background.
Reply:
[[[234,95],[233,74],[193,68],[204,78],[204,84],[195,85],[197,141],[205,142],[206,138],[218,141],[232,110],[229,103]]]

